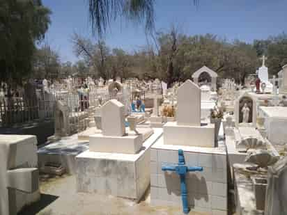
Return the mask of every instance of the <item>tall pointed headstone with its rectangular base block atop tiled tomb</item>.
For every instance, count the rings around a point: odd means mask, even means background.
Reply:
[[[201,125],[200,88],[185,81],[178,89],[177,100],[176,122],[164,125],[164,144],[215,147],[215,126]]]

